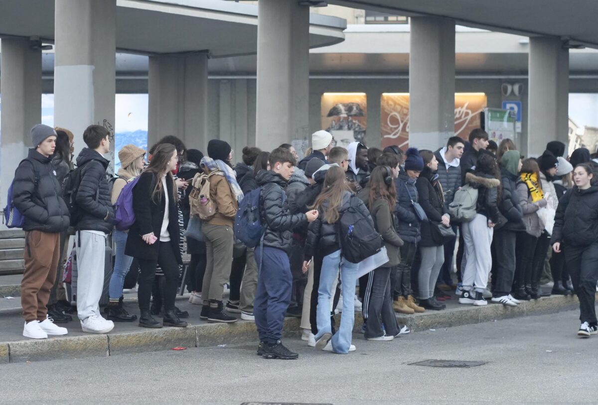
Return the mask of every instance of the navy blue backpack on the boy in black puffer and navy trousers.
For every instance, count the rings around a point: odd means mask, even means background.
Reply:
[[[257,247],[266,231],[261,223],[260,193],[261,187],[258,187],[245,194],[234,217],[234,237],[247,247]]]

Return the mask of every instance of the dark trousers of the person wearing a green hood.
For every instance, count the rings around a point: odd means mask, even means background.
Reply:
[[[492,293],[495,297],[502,297],[511,293],[515,277],[517,232],[498,229],[494,231],[492,241],[496,251],[496,283]]]

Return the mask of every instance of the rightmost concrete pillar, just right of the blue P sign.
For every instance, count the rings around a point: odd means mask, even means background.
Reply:
[[[559,38],[529,39],[528,119],[524,154],[538,157],[551,140],[569,145],[569,50]]]

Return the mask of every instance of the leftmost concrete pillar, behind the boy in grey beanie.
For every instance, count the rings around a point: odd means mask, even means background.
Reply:
[[[41,50],[33,50],[29,39],[2,38],[0,96],[0,206],[4,207],[14,170],[33,146],[30,130],[41,122]]]

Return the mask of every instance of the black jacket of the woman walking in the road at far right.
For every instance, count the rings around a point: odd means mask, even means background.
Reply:
[[[574,186],[560,199],[550,240],[557,242],[571,246],[598,243],[598,185],[587,190]]]

